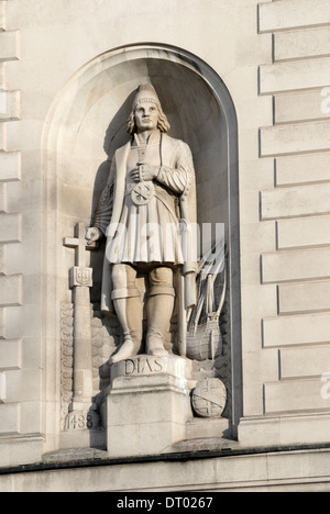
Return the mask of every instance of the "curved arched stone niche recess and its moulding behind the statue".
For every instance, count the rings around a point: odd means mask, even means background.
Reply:
[[[235,433],[242,412],[237,115],[221,78],[196,56],[162,45],[118,48],[88,63],[54,102],[44,134],[46,334],[51,337],[54,323],[59,326],[61,304],[70,301],[67,270],[74,256],[63,247],[63,238],[77,222],[89,224],[113,153],[129,139],[125,122],[133,92],[146,81],[158,92],[169,135],[193,150],[198,222],[224,224]],[[94,257],[97,284],[101,257]],[[55,346],[61,345],[59,333],[57,339]]]

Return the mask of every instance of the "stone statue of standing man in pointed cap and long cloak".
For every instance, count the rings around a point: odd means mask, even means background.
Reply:
[[[166,355],[164,336],[174,311],[175,271],[185,286],[183,309],[196,301],[196,259],[189,227],[196,223],[193,156],[182,141],[166,135],[169,123],[152,85],[139,87],[128,132],[132,139],[113,157],[99,201],[89,244],[107,236],[101,310],[114,312],[124,342],[112,362],[143,351],[143,301],[138,275],[147,278],[145,353]],[[183,248],[180,227],[185,227]]]

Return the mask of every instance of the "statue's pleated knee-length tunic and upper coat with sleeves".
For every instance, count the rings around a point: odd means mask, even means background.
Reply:
[[[155,180],[138,185],[130,172],[142,160],[160,171]],[[140,147],[135,139],[118,150],[95,220],[95,226],[108,236],[108,261],[184,265],[180,219],[196,221],[195,171],[188,145],[156,131],[146,146]]]

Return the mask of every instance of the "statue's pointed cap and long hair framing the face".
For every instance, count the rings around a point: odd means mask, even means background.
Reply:
[[[157,115],[157,128],[166,133],[169,131],[170,125],[166,115],[163,112],[158,96],[155,88],[151,83],[143,83],[139,87],[135,94],[132,112],[128,120],[128,133],[133,135],[138,131],[136,126],[136,113],[142,109],[150,109]],[[156,109],[156,111],[155,111]]]

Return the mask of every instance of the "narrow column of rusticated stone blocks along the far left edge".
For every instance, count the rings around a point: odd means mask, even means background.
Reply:
[[[21,181],[21,153],[8,135],[8,124],[21,119],[21,92],[7,90],[7,64],[19,66],[20,32],[7,27],[7,3],[0,1],[0,451],[1,434],[21,433],[21,392],[29,389],[21,375],[22,340],[12,337],[22,320],[23,270],[8,275],[7,260],[8,247],[14,245],[18,250],[22,244],[22,213],[11,211],[11,188]],[[15,326],[12,310],[20,312]]]

